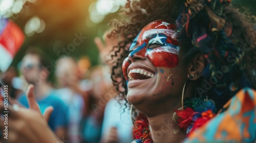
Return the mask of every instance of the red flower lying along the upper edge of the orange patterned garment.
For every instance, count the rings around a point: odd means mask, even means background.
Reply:
[[[206,122],[208,122],[211,118],[215,117],[215,113],[212,112],[212,110],[208,109],[207,111],[204,111],[201,113],[202,117],[198,118],[194,124],[193,127],[191,128],[189,134],[191,134],[191,132],[193,132],[194,130],[196,130],[197,128],[201,127],[202,125],[204,125]],[[189,136],[188,134],[188,136]]]

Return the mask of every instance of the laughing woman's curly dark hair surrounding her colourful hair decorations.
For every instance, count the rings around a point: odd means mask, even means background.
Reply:
[[[114,30],[111,32],[111,35],[121,34],[123,37],[126,38],[124,41],[119,42],[118,46],[115,46],[113,48],[115,54],[111,55],[112,58],[118,56],[118,60],[116,61],[115,66],[113,66],[112,68],[112,80],[114,85],[116,86],[117,91],[119,92],[119,95],[117,97],[118,100],[126,100],[126,81],[122,74],[122,62],[129,54],[129,50],[125,49],[126,44],[131,43],[135,39],[137,34],[140,32],[140,30],[152,21],[163,19],[168,23],[177,22],[177,17],[181,13],[181,5],[185,2],[190,1],[140,0],[131,2],[130,0],[127,0],[125,8],[120,10],[121,18],[112,20],[110,22],[110,24],[114,27]],[[196,14],[195,17],[197,17],[197,21],[190,21],[190,23],[192,23],[192,27],[194,27],[195,25],[202,26],[202,23],[200,23],[202,22],[200,21],[200,18],[203,19],[205,17],[206,11],[204,9],[205,8],[203,8],[201,12]],[[237,44],[235,45],[235,47],[237,47],[234,48],[236,50],[232,50],[232,48],[230,48],[229,54],[237,53],[241,50],[243,50],[243,53],[239,54],[238,58],[236,59],[237,63],[235,64],[235,66],[227,66],[227,72],[223,74],[224,78],[219,80],[217,84],[214,84],[214,88],[211,88],[209,91],[201,95],[207,95],[208,98],[213,99],[216,102],[218,110],[227,102],[227,100],[229,100],[236,92],[238,92],[238,90],[244,87],[250,87],[255,89],[256,85],[255,76],[252,76],[252,74],[256,74],[252,73],[255,72],[256,67],[256,32],[253,29],[253,24],[255,23],[255,16],[248,12],[240,12],[240,9],[229,4],[228,6],[223,7],[221,17],[232,24],[232,40],[237,40],[236,42],[234,42]],[[208,21],[210,21],[209,18]],[[183,35],[184,33],[185,32],[183,32]],[[187,54],[185,55],[184,58],[186,59],[191,58],[193,55],[195,55],[195,53],[202,52],[201,50],[195,50],[195,48],[192,48],[197,47],[196,44],[193,42],[193,40],[195,40],[196,37],[194,37],[193,35],[193,30],[191,30],[190,33],[192,36],[185,35],[184,38],[184,36],[180,35],[176,37],[178,40],[180,40],[179,46],[181,48],[185,48],[185,52]],[[221,42],[219,44],[223,45],[223,43]],[[227,44],[226,47],[229,45]],[[225,46],[223,47],[226,50]],[[219,60],[218,58],[216,58],[216,56],[215,59]],[[226,64],[227,63],[219,62],[214,63],[213,65],[216,66],[216,71],[220,70],[220,68]],[[236,72],[233,72],[233,70],[236,70]],[[214,76],[215,71],[208,71],[211,74],[210,77]],[[122,80],[116,80],[117,78],[121,78]],[[206,77],[202,76],[202,78]],[[209,80],[209,77],[207,77],[206,79]],[[198,87],[203,87],[203,79],[200,79],[198,82]],[[233,82],[235,82],[235,90],[226,90],[229,89],[229,85]],[[123,88],[120,88],[120,86]],[[221,92],[222,94],[220,95],[220,91],[225,92]]]

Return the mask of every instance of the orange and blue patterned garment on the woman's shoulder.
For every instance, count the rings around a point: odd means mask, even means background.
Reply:
[[[190,142],[255,142],[256,92],[245,88],[231,98],[218,115],[189,134]]]

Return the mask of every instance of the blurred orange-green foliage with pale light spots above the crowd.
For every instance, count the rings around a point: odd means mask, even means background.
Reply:
[[[234,0],[255,12],[254,0]],[[58,59],[58,51],[73,43],[75,35],[86,37],[68,55],[77,60],[88,56],[92,65],[98,64],[96,36],[102,37],[109,20],[125,5],[125,0],[0,0],[0,13],[13,20],[26,39],[12,65],[17,66],[29,46],[44,50],[51,60]],[[63,51],[62,51],[63,52]]]

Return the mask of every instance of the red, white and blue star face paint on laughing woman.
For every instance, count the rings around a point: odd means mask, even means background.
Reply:
[[[180,48],[179,43],[172,39],[175,28],[174,24],[162,20],[146,25],[131,44],[131,58],[136,54],[146,56],[155,67],[176,67]]]

